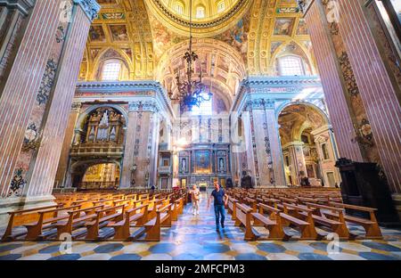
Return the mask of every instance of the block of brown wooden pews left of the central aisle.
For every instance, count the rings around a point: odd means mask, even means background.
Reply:
[[[54,205],[9,212],[2,241],[160,241],[183,213],[186,192],[68,193]],[[135,230],[131,233],[131,228]]]

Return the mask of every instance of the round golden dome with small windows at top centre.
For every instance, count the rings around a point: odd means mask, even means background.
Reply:
[[[177,34],[186,36],[190,26],[189,1],[145,0],[148,11]],[[241,19],[252,0],[195,0],[192,7],[193,37],[212,37]],[[220,5],[220,6],[219,6]]]

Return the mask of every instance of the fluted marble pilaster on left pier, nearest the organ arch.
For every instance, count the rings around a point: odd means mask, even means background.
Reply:
[[[43,127],[43,140],[31,171],[27,191],[29,196],[48,195],[53,190],[87,34],[96,12],[99,11],[96,2],[92,2],[93,5],[91,2],[74,0],[71,23],[59,61],[59,71],[54,80],[53,100]]]

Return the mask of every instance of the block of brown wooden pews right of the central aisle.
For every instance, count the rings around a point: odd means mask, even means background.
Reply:
[[[365,239],[382,239],[381,229],[375,217],[376,208],[365,208],[342,203],[338,192],[227,191],[228,211],[235,225],[245,228],[245,240],[323,240],[329,233],[338,234],[340,240],[361,237],[352,233],[350,224],[364,227]],[[359,212],[366,217],[350,215]],[[299,231],[294,237],[285,228]],[[267,236],[257,227],[265,227]]]

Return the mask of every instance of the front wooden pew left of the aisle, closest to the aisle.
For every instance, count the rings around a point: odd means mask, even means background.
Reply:
[[[145,241],[160,241],[162,226],[171,226],[171,204],[157,209],[156,217],[143,225],[145,227]]]

